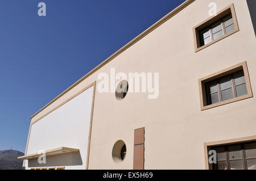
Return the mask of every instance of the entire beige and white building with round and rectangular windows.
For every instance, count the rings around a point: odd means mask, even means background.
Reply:
[[[185,1],[36,112],[24,167],[256,169],[252,7],[214,2]],[[141,91],[113,73],[139,73]]]

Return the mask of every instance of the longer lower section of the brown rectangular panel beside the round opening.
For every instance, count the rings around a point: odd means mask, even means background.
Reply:
[[[144,144],[134,145],[133,169],[144,169]]]

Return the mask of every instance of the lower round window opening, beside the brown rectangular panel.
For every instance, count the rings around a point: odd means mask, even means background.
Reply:
[[[115,163],[122,162],[126,155],[126,145],[122,140],[115,142],[112,150],[112,158]]]

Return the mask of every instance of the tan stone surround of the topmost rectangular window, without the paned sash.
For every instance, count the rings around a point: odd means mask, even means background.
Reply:
[[[216,40],[210,41],[210,43],[205,44],[201,46],[201,40],[200,40],[200,31],[204,30],[205,28],[211,26],[212,24],[218,22],[218,20],[221,20],[225,18],[225,16],[231,14],[233,18],[233,23],[234,23],[234,30],[230,31],[229,33],[223,33],[222,36],[219,37]],[[224,27],[222,26],[222,29]],[[237,23],[237,17],[236,17],[236,12],[234,10],[234,5],[229,5],[228,7],[225,7],[225,9],[217,12],[216,16],[210,16],[210,18],[204,20],[203,22],[197,24],[195,27],[193,27],[193,36],[194,36],[194,41],[195,41],[195,52],[198,52],[201,49],[204,49],[206,47],[209,47],[210,45],[216,43],[217,41],[220,41],[224,39],[225,37],[228,37],[232,35],[233,33],[236,33],[239,31],[238,23]],[[225,32],[225,30],[224,30]],[[212,40],[212,39],[211,39]]]

